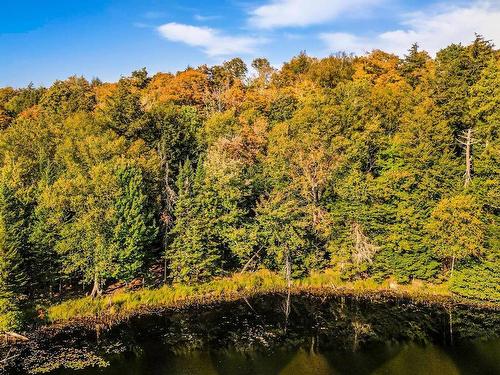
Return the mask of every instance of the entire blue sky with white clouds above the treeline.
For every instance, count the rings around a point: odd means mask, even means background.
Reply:
[[[70,75],[115,81],[234,56],[279,66],[373,48],[431,54],[474,32],[500,45],[500,0],[2,0],[0,86]]]

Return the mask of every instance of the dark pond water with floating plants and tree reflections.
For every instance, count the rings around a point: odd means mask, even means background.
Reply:
[[[39,340],[22,371],[500,374],[498,312],[296,296],[286,317],[284,301],[273,295],[134,318],[111,330],[68,329]]]

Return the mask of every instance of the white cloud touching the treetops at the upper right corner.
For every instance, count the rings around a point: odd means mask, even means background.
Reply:
[[[500,44],[500,4],[476,2],[466,7],[441,7],[432,13],[403,16],[401,28],[380,34],[359,36],[350,33],[323,33],[320,38],[330,51],[363,54],[379,48],[399,55],[413,43],[435,54],[451,43],[469,43],[474,33]]]

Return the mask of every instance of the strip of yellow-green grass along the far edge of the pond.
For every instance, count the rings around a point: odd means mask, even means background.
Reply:
[[[333,271],[313,273],[307,278],[295,280],[291,291],[315,295],[393,296],[410,298],[419,302],[467,303],[498,307],[495,303],[465,300],[453,296],[447,284],[414,282],[397,285],[391,281],[379,284],[371,279],[345,282]],[[65,323],[78,319],[112,322],[147,311],[232,301],[280,292],[286,292],[283,277],[261,270],[235,274],[198,285],[163,286],[158,289],[121,291],[97,299],[84,297],[68,300],[47,308],[46,319],[48,323]]]

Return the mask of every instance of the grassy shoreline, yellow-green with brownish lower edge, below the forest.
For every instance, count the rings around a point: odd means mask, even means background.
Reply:
[[[319,274],[319,276],[332,276]],[[316,275],[318,276],[318,275]],[[387,284],[387,283],[386,283]],[[500,303],[479,299],[470,299],[443,292],[436,292],[435,284],[424,284],[417,289],[411,285],[398,285],[396,288],[383,284],[357,282],[332,282],[315,280],[314,276],[296,280],[292,284],[292,296],[310,295],[319,298],[348,297],[370,301],[384,299],[405,300],[420,305],[454,307],[462,306],[474,309],[500,311]],[[112,327],[129,318],[154,313],[190,308],[205,308],[213,304],[245,301],[249,298],[280,294],[286,296],[288,289],[285,280],[267,270],[253,273],[236,274],[228,278],[198,285],[173,285],[157,289],[139,289],[121,291],[97,299],[83,297],[52,305],[47,308],[47,319],[36,329],[79,324],[98,324]]]

